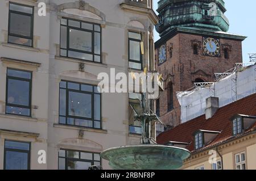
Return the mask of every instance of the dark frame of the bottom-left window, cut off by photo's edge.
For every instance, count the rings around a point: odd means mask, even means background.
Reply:
[[[6,141],[11,141],[11,142],[20,142],[20,143],[26,143],[30,145],[30,149],[29,150],[20,150],[20,149],[11,149],[11,148],[5,148],[5,146],[3,147],[3,170],[6,170],[6,151],[15,151],[18,153],[27,153],[28,157],[27,157],[27,170],[30,170],[31,165],[30,165],[30,160],[31,160],[31,142],[26,142],[26,141],[14,141],[14,140],[5,140],[5,145],[6,145]]]

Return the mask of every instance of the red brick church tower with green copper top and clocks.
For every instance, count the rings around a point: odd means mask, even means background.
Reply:
[[[222,0],[160,0],[157,11],[161,38],[155,43],[155,68],[163,75],[164,91],[156,100],[156,113],[175,127],[181,123],[176,92],[195,82],[213,82],[214,73],[242,62],[246,37],[227,33]]]

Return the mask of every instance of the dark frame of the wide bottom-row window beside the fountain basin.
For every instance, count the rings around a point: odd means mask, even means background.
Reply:
[[[59,151],[60,150],[64,150],[65,151],[65,157],[60,157],[60,153],[59,153]],[[71,150],[71,149],[60,149],[59,151],[58,151],[58,170],[60,170],[59,168],[60,168],[60,163],[59,163],[59,158],[64,158],[65,159],[65,170],[68,170],[68,164],[67,164],[67,162],[68,162],[68,160],[71,160],[71,161],[88,161],[88,162],[100,162],[100,166],[102,166],[102,158],[100,157],[100,161],[96,161],[95,159],[94,159],[94,154],[99,154],[100,155],[100,153],[96,153],[96,152],[89,152],[89,151],[81,151],[81,150]],[[67,151],[74,151],[74,152],[79,152],[79,158],[69,158],[69,157],[67,157]],[[81,153],[90,153],[90,154],[92,154],[92,160],[89,160],[89,159],[81,159]],[[91,166],[93,166],[93,165],[91,165]]]

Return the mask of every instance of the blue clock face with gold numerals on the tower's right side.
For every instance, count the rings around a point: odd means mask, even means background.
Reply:
[[[204,37],[203,50],[204,55],[220,57],[220,39]]]

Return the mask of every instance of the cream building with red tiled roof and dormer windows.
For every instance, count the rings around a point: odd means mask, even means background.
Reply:
[[[218,98],[207,99],[205,114],[160,134],[159,144],[191,151],[185,170],[256,169],[256,94],[218,107]]]

